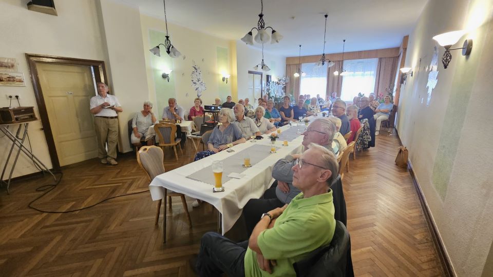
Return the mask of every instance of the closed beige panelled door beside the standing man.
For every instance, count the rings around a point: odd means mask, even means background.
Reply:
[[[96,88],[90,66],[36,63],[60,165],[98,156],[90,98]]]

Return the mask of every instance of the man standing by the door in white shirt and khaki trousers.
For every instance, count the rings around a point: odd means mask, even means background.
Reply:
[[[122,105],[115,95],[108,94],[105,83],[97,83],[98,95],[91,97],[90,112],[94,114],[94,128],[98,139],[98,157],[102,164],[118,165],[118,113]],[[106,143],[108,151],[106,152]]]

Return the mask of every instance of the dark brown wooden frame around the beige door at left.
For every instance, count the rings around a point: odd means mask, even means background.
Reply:
[[[31,76],[34,97],[36,98],[37,109],[40,113],[43,132],[45,133],[46,143],[48,144],[48,152],[50,153],[51,164],[53,166],[53,169],[59,170],[60,161],[58,160],[58,153],[56,153],[55,141],[53,140],[53,133],[51,132],[50,121],[48,119],[48,112],[46,110],[46,104],[43,98],[43,89],[41,88],[40,77],[37,71],[36,63],[90,66],[94,71],[96,82],[106,83],[107,78],[104,62],[96,60],[86,60],[82,58],[70,58],[29,53],[26,53],[26,60],[29,67],[29,74]]]

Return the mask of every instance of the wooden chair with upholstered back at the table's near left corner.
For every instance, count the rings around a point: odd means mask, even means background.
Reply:
[[[154,180],[154,178],[165,172],[163,165],[164,153],[163,150],[157,146],[142,146],[137,152],[137,163],[140,167],[144,169],[145,173],[149,177],[149,181]],[[180,196],[181,203],[183,204],[183,209],[186,213],[186,219],[188,220],[188,225],[192,228],[192,220],[190,219],[190,214],[188,213],[188,206],[186,205],[185,195],[182,193],[177,193],[170,191],[168,189],[164,190],[164,211],[163,211],[163,240],[166,242],[166,202],[169,200],[169,208],[171,209],[171,197]],[[159,200],[158,207],[156,210],[156,220],[155,225],[158,225],[159,213],[161,210],[162,200]]]

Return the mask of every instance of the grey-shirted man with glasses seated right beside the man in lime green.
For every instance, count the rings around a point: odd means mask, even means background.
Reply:
[[[328,118],[317,118],[303,133],[302,145],[308,149],[310,143],[326,147],[332,151],[332,139],[336,132],[335,125]],[[243,217],[247,227],[247,234],[252,234],[253,228],[264,212],[289,204],[300,193],[293,186],[292,168],[296,164],[299,154],[288,155],[280,159],[272,169],[272,177],[277,180],[277,186],[272,186],[264,194],[262,199],[250,199],[243,207]]]

